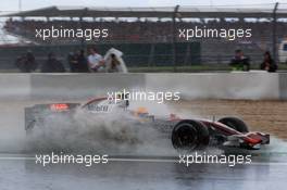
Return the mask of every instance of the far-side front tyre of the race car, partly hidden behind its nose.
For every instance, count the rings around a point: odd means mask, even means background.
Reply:
[[[224,125],[227,125],[228,127],[239,131],[239,132],[248,132],[248,127],[245,124],[244,121],[237,117],[224,117],[219,121],[219,123],[222,123]]]

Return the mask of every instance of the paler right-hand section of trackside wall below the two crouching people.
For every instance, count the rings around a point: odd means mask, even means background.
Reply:
[[[179,91],[186,99],[279,99],[278,74],[147,74],[147,88]],[[283,87],[283,86],[282,86]]]

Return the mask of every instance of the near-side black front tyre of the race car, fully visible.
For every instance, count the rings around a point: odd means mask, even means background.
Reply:
[[[202,150],[209,144],[209,129],[199,121],[182,121],[172,131],[173,147],[179,151]]]

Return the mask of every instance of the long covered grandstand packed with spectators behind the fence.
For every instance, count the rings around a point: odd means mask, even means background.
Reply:
[[[66,50],[62,52],[65,53],[72,49],[71,47],[66,48],[68,46],[83,47],[89,46],[89,43],[117,46],[118,48],[123,48],[124,43],[134,43],[136,49],[145,47],[145,51],[136,52],[128,46],[124,48],[126,59],[130,60],[127,64],[133,66],[138,63],[141,63],[140,66],[164,65],[164,63],[158,63],[159,59],[157,59],[163,56],[170,59],[162,59],[161,62],[171,65],[174,52],[178,65],[223,64],[229,61],[235,49],[242,49],[251,58],[252,63],[258,64],[262,59],[263,51],[272,50],[287,37],[287,10],[274,10],[273,5],[267,9],[178,7],[177,10],[175,8],[49,7],[7,14],[2,17],[8,18],[4,25],[7,33],[28,39],[37,46],[62,46],[62,49],[64,46]],[[274,24],[276,30],[273,33]],[[84,29],[100,27],[108,28],[111,33],[108,38],[90,41],[75,38],[43,41],[35,38],[36,28],[51,26]],[[233,41],[225,38],[185,41],[174,34],[174,30],[178,30],[178,28],[194,28],[195,26],[216,29],[251,28],[252,38],[240,38]],[[274,36],[276,37],[275,41]],[[178,43],[177,47],[180,48],[173,52],[175,46],[172,45],[174,42]],[[161,45],[164,45],[165,48],[159,49],[159,47],[164,47]],[[64,58],[65,54],[61,54],[61,56]],[[136,56],[138,58],[135,59]],[[184,59],[179,61],[178,58]]]

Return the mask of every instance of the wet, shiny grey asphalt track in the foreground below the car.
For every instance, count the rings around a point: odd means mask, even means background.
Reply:
[[[5,155],[7,156],[7,155]],[[286,159],[286,156],[285,156]],[[286,163],[254,162],[229,167],[221,164],[183,164],[169,160],[111,161],[92,165],[35,164],[33,160],[0,161],[3,190],[88,189],[285,189]]]

